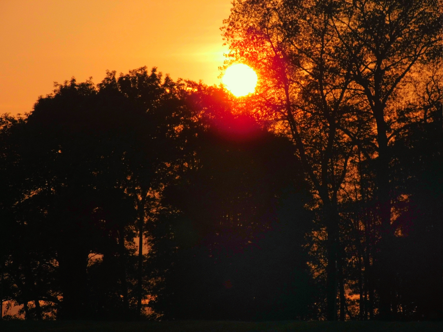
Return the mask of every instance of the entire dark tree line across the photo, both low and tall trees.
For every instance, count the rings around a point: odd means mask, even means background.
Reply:
[[[26,319],[441,319],[441,18],[234,1],[225,65],[256,70],[251,96],[142,67],[3,115],[2,301]]]

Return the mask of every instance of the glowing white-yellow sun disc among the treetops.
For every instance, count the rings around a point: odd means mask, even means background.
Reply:
[[[241,97],[255,91],[257,74],[251,67],[237,63],[226,69],[222,81],[234,96]]]

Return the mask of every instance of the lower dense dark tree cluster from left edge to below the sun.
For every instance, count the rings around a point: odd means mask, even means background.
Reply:
[[[3,300],[27,319],[306,316],[293,146],[232,105],[140,68],[4,115]]]

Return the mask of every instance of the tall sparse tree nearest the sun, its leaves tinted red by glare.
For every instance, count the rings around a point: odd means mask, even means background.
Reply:
[[[339,131],[358,124],[351,67],[338,63],[329,15],[323,2],[235,1],[225,20],[231,62],[243,61],[260,80],[253,112],[291,137],[303,169],[319,199],[327,233],[327,317],[336,319],[339,209],[354,144]]]

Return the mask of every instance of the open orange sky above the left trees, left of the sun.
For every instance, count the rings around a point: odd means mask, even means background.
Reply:
[[[29,112],[53,82],[157,66],[218,84],[230,0],[0,0],[0,114]]]

